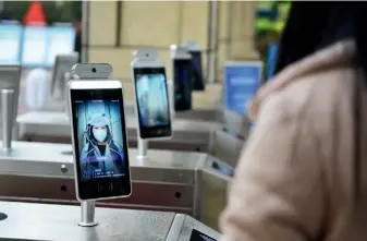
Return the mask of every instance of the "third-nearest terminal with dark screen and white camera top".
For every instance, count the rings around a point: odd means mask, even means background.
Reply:
[[[171,46],[174,82],[174,110],[192,109],[192,57],[181,46]]]

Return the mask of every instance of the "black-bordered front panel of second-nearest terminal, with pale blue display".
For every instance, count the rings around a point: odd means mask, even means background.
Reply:
[[[171,120],[164,68],[138,68],[134,75],[140,136],[166,136]]]

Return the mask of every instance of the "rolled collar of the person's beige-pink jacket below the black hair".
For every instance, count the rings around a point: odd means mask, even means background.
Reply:
[[[252,99],[248,106],[250,120],[256,121],[261,103],[272,93],[283,89],[309,73],[350,64],[355,57],[355,51],[354,40],[342,40],[290,64],[264,85]]]

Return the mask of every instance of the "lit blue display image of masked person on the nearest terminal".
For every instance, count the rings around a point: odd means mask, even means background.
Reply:
[[[119,100],[76,104],[82,179],[123,176],[125,160]]]

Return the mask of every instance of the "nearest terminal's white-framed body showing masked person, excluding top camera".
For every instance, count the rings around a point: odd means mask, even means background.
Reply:
[[[69,82],[76,196],[79,201],[131,194],[122,84]]]

